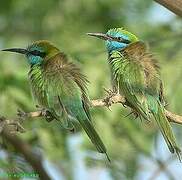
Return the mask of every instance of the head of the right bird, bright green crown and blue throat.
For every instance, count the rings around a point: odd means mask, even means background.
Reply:
[[[123,49],[129,44],[139,41],[137,36],[123,28],[113,28],[103,33],[87,33],[90,36],[98,37],[105,40],[106,47],[109,52],[113,50]]]

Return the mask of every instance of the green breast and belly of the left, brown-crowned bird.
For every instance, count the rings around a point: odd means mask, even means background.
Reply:
[[[34,65],[31,67],[29,79],[33,97],[38,104],[49,110],[55,119],[60,120],[64,128],[71,128],[71,126],[69,127],[71,123],[68,121],[68,113],[60,101],[59,94],[53,90],[55,84],[49,83],[49,81],[51,82],[52,80],[46,78],[41,66]]]

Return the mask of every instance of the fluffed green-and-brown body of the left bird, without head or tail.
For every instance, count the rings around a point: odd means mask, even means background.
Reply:
[[[32,66],[29,78],[34,97],[43,107],[48,108],[56,119],[68,124],[68,115],[76,115],[83,108],[90,118],[87,80],[80,69],[67,61],[64,54],[45,61],[41,66]]]

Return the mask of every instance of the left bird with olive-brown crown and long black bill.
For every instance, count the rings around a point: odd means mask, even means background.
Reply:
[[[88,80],[79,67],[50,42],[36,41],[28,48],[11,48],[3,51],[24,54],[30,65],[29,80],[38,104],[47,109],[65,128],[73,128],[78,120],[100,153],[106,147],[93,127],[87,95]]]

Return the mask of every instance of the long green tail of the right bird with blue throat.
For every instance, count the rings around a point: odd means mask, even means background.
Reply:
[[[176,139],[173,135],[172,128],[169,121],[164,114],[164,108],[159,101],[157,101],[157,112],[151,111],[159,129],[166,141],[166,144],[171,153],[176,153],[179,160],[181,161],[181,150],[176,144]]]

